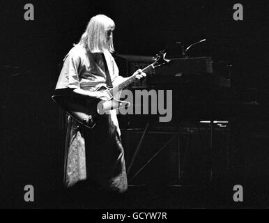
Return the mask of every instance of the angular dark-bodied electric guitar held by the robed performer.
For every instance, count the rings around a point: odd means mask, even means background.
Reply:
[[[152,73],[156,67],[169,63],[169,60],[165,59],[165,55],[164,49],[157,56],[153,57],[154,62],[146,66],[142,71],[147,74]],[[53,95],[52,100],[79,123],[87,128],[94,128],[95,124],[98,123],[100,115],[105,114],[109,110],[120,109],[130,105],[130,102],[121,101],[119,98],[123,89],[137,81],[136,75],[137,73],[134,72],[132,76],[125,78],[123,82],[117,84],[112,89],[107,88],[105,84],[98,85],[95,91],[107,93],[108,100],[89,99],[89,97],[75,95],[75,93]]]

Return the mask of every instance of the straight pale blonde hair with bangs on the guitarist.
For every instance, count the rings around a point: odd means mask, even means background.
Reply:
[[[107,29],[115,28],[114,21],[106,15],[95,15],[89,21],[78,45],[83,45],[91,53],[102,52],[104,49],[114,52],[113,36],[107,40]]]

